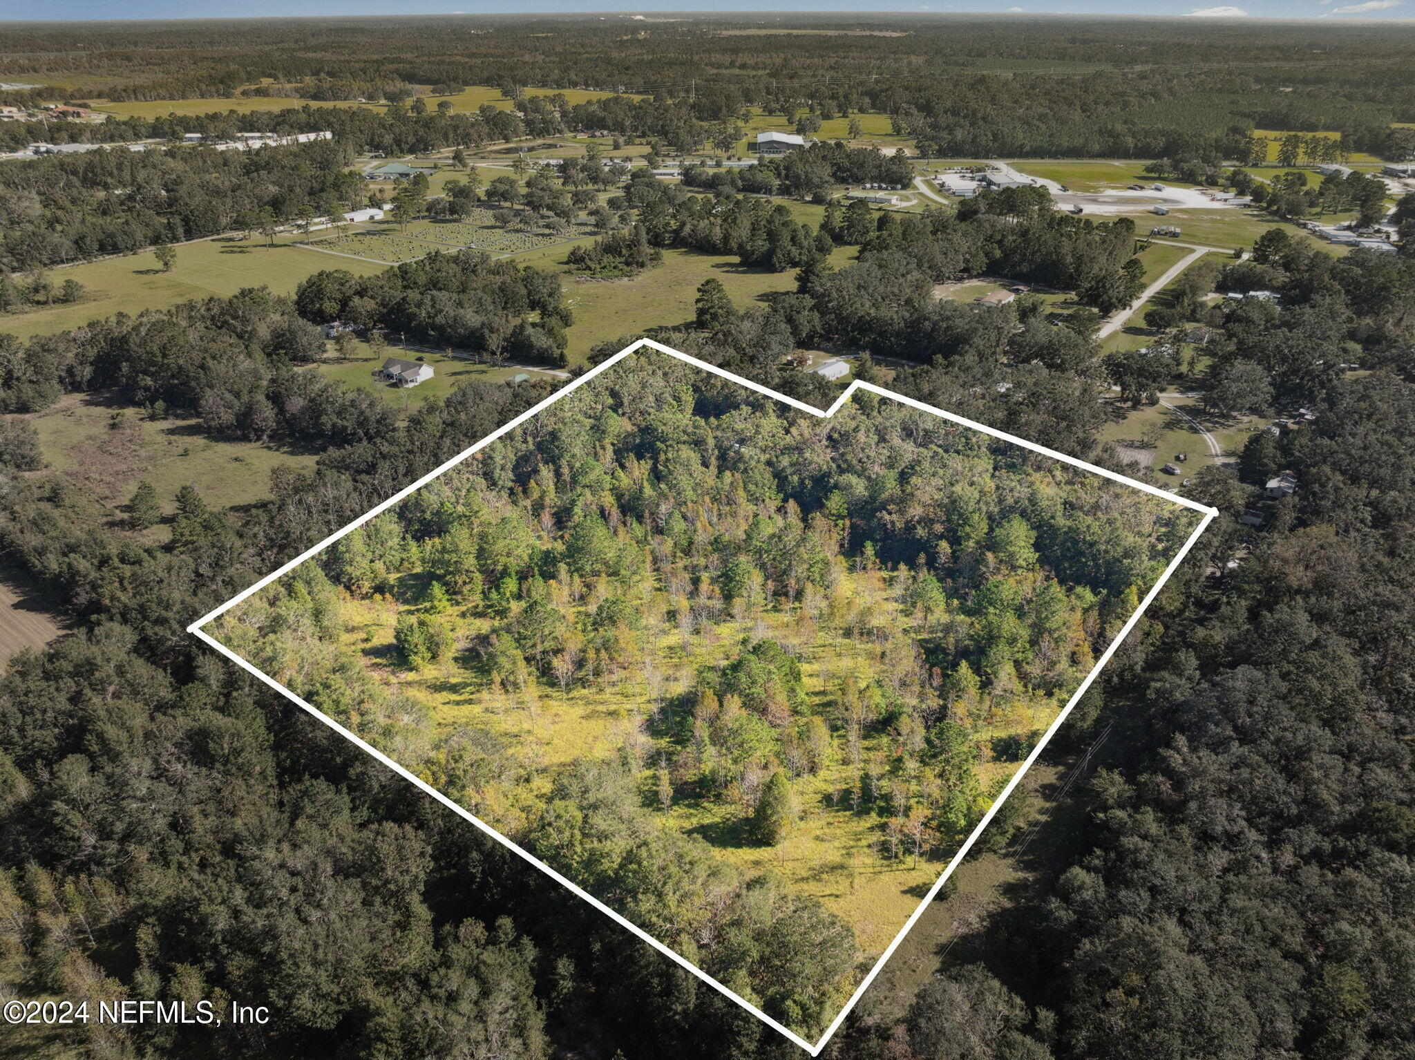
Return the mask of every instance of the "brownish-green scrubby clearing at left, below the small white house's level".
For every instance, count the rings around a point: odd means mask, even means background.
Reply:
[[[151,420],[108,393],[69,393],[44,412],[24,416],[40,433],[48,467],[109,508],[126,504],[143,478],[171,514],[177,490],[191,484],[215,508],[242,508],[270,495],[277,464],[314,467],[316,453],[276,443],[214,439],[198,420]],[[163,524],[149,542],[167,538]]]

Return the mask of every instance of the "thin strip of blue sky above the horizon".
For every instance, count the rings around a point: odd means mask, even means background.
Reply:
[[[516,14],[617,11],[958,11],[1190,16],[1213,18],[1415,18],[1415,0],[0,0],[0,21],[212,18],[348,14]],[[3,72],[3,71],[0,71]]]

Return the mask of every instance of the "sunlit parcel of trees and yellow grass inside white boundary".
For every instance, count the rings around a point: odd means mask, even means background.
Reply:
[[[904,406],[807,422],[644,351],[211,633],[814,1037],[860,911],[710,848],[799,819],[947,859],[1196,522]],[[542,736],[558,696],[573,736]]]

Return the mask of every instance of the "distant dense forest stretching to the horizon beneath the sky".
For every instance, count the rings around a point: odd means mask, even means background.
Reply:
[[[802,28],[811,33],[792,33]],[[232,33],[242,40],[235,55],[224,47]],[[378,34],[376,51],[364,47],[369,33]],[[529,85],[641,96],[545,112],[531,119],[549,122],[536,134],[604,129],[676,150],[706,143],[749,106],[782,116],[887,113],[925,154],[941,157],[1241,159],[1254,127],[1336,130],[1354,150],[1392,156],[1415,144],[1409,129],[1392,127],[1415,122],[1409,30],[1398,24],[1327,24],[1316,33],[1189,20],[1180,37],[1163,21],[957,14],[869,23],[773,16],[766,25],[730,16],[668,24],[478,17],[473,25],[441,16],[158,31],[11,24],[7,35],[13,51],[41,52],[34,76],[47,86],[0,93],[0,102],[17,103],[249,92],[402,106],[419,91],[495,85],[519,99]],[[181,61],[173,64],[177,50]]]

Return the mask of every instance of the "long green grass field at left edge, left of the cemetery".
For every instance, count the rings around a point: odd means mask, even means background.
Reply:
[[[150,250],[54,269],[50,277],[55,286],[72,277],[83,284],[88,297],[68,306],[0,316],[0,331],[21,338],[50,335],[115,313],[136,316],[144,309],[167,309],[192,299],[228,297],[242,287],[265,284],[276,294],[293,294],[300,280],[321,269],[348,269],[371,276],[388,267],[381,262],[311,253],[291,245],[300,238],[279,236],[275,246],[267,246],[260,236],[183,243],[175,248],[177,265],[171,272],[161,272]]]

